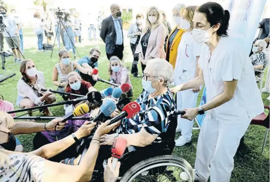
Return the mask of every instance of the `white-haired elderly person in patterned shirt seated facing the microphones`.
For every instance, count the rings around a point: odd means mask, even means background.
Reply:
[[[168,86],[173,82],[173,78],[173,67],[165,59],[152,59],[147,62],[142,79],[145,91],[136,100],[141,110],[133,118],[124,118],[119,122],[116,133],[105,134],[100,138],[101,147],[96,170],[100,173],[104,171],[103,161],[111,156],[111,145],[117,136],[127,140],[123,158],[129,159],[121,165],[122,175],[131,166],[144,159],[172,153],[174,143],[170,145],[170,142],[174,142],[177,121],[174,121],[174,133],[169,131],[172,112],[176,107]],[[118,113],[113,114],[116,116]],[[168,139],[168,133],[172,133],[171,139]]]

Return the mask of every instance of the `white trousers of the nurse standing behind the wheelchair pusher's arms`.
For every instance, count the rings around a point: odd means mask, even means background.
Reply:
[[[194,108],[197,104],[197,98],[199,93],[194,93],[191,89],[184,90],[176,93],[176,107],[177,110],[183,110],[185,108]],[[177,129],[181,129],[181,135],[185,138],[191,139],[194,120],[181,118],[178,115]]]

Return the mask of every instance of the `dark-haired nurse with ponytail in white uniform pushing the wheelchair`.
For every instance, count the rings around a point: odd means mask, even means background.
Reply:
[[[229,12],[220,4],[201,5],[193,18],[192,37],[201,48],[199,76],[172,92],[206,86],[207,103],[186,108],[183,118],[193,120],[207,111],[199,133],[195,180],[229,182],[233,157],[251,119],[264,112],[254,71],[243,45],[227,36]],[[211,171],[210,171],[211,166]],[[181,173],[181,177],[185,176]]]

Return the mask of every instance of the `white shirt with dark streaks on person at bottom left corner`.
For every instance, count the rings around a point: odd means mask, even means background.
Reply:
[[[45,159],[35,155],[12,154],[0,166],[0,182],[42,182]]]

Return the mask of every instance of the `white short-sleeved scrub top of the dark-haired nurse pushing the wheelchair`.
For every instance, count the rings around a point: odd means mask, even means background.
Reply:
[[[244,50],[230,37],[221,37],[212,55],[206,44],[201,48],[199,66],[203,71],[207,102],[223,92],[223,81],[238,80],[233,98],[208,111],[224,120],[239,120],[245,114],[254,118],[264,112],[253,66]]]

